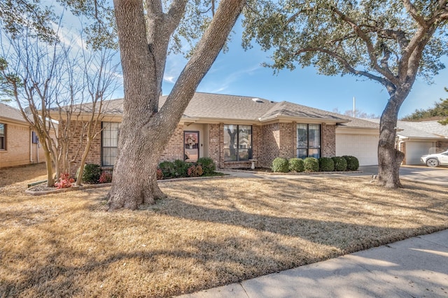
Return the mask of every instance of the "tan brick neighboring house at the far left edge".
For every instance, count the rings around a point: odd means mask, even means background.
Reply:
[[[45,162],[36,134],[16,108],[0,103],[0,168]]]

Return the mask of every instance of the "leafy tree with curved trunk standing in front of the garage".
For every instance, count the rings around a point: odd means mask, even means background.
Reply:
[[[315,66],[326,76],[351,74],[388,92],[380,121],[379,183],[399,187],[404,155],[395,149],[402,102],[416,76],[430,80],[444,65],[447,1],[280,0],[248,1],[244,46],[272,50],[277,71]]]

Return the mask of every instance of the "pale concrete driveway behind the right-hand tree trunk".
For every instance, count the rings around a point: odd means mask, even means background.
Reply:
[[[363,173],[372,175],[378,173],[378,166],[360,166]],[[448,167],[440,166],[430,168],[428,166],[401,166],[400,178],[415,180],[422,183],[448,185]]]

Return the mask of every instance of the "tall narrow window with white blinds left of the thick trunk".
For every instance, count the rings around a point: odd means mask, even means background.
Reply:
[[[113,166],[117,158],[121,123],[103,122],[102,125],[102,165]]]

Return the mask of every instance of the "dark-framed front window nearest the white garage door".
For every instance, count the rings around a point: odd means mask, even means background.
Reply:
[[[321,157],[321,125],[297,124],[297,157]]]

